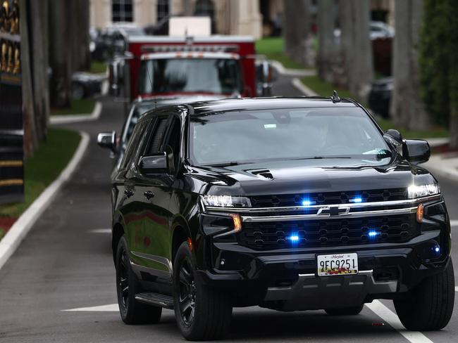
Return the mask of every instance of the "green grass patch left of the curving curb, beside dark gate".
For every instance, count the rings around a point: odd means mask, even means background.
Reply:
[[[49,129],[47,141],[39,145],[39,149],[33,157],[25,159],[25,201],[0,205],[0,216],[18,218],[42,191],[61,174],[61,171],[73,157],[79,143],[80,134],[78,132],[66,129]],[[3,234],[3,229],[0,228],[0,238]]]

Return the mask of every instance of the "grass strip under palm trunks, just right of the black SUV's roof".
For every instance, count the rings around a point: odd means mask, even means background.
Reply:
[[[338,91],[339,96],[342,98],[353,98],[352,94],[347,89],[335,87],[328,82],[324,82],[318,76],[302,77],[301,81],[320,96],[331,96],[335,90]],[[362,103],[362,105],[368,108],[366,103]],[[437,138],[449,136],[448,131],[442,127],[436,127],[428,131],[407,131],[401,127],[395,127],[390,119],[380,118],[377,119],[377,122],[383,130],[397,129],[404,138]]]

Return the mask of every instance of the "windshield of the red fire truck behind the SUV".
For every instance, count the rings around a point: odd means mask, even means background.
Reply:
[[[140,94],[242,93],[238,60],[176,58],[143,60]]]

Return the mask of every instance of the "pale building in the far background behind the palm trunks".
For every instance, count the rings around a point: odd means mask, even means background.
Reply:
[[[283,26],[283,0],[90,0],[91,26],[132,22],[158,25],[170,15],[208,15],[215,34],[278,36]],[[338,1],[336,1],[336,6]],[[394,25],[395,0],[371,0],[371,19]],[[336,7],[337,8],[337,7]],[[312,18],[316,0],[311,0]]]

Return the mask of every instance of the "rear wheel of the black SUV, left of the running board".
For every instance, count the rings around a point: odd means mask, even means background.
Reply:
[[[123,236],[116,250],[116,293],[121,319],[129,325],[158,323],[162,308],[137,302],[135,294],[138,292],[138,281],[130,267],[128,244]]]

